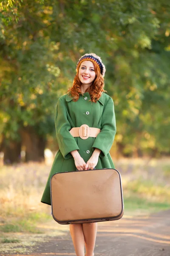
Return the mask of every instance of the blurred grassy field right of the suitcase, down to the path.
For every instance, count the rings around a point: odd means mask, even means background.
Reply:
[[[170,208],[170,159],[121,159],[125,212],[148,214]]]

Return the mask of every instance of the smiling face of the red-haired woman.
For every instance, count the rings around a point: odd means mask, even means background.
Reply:
[[[92,84],[96,77],[94,64],[91,61],[83,61],[79,67],[79,79],[82,84]]]

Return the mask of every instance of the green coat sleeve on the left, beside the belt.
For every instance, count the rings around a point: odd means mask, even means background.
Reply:
[[[74,137],[70,134],[71,125],[68,122],[67,111],[61,99],[58,100],[55,111],[55,128],[59,149],[65,159],[72,157],[71,151],[79,150]]]

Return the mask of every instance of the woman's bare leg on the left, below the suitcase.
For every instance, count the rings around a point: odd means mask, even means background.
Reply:
[[[70,224],[71,238],[77,256],[85,256],[85,237],[82,224]]]

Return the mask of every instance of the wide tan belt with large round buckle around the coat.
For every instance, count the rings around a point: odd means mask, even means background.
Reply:
[[[88,139],[88,137],[97,137],[100,129],[89,127],[88,125],[81,125],[80,127],[74,127],[70,130],[73,137],[80,137],[82,140]]]

